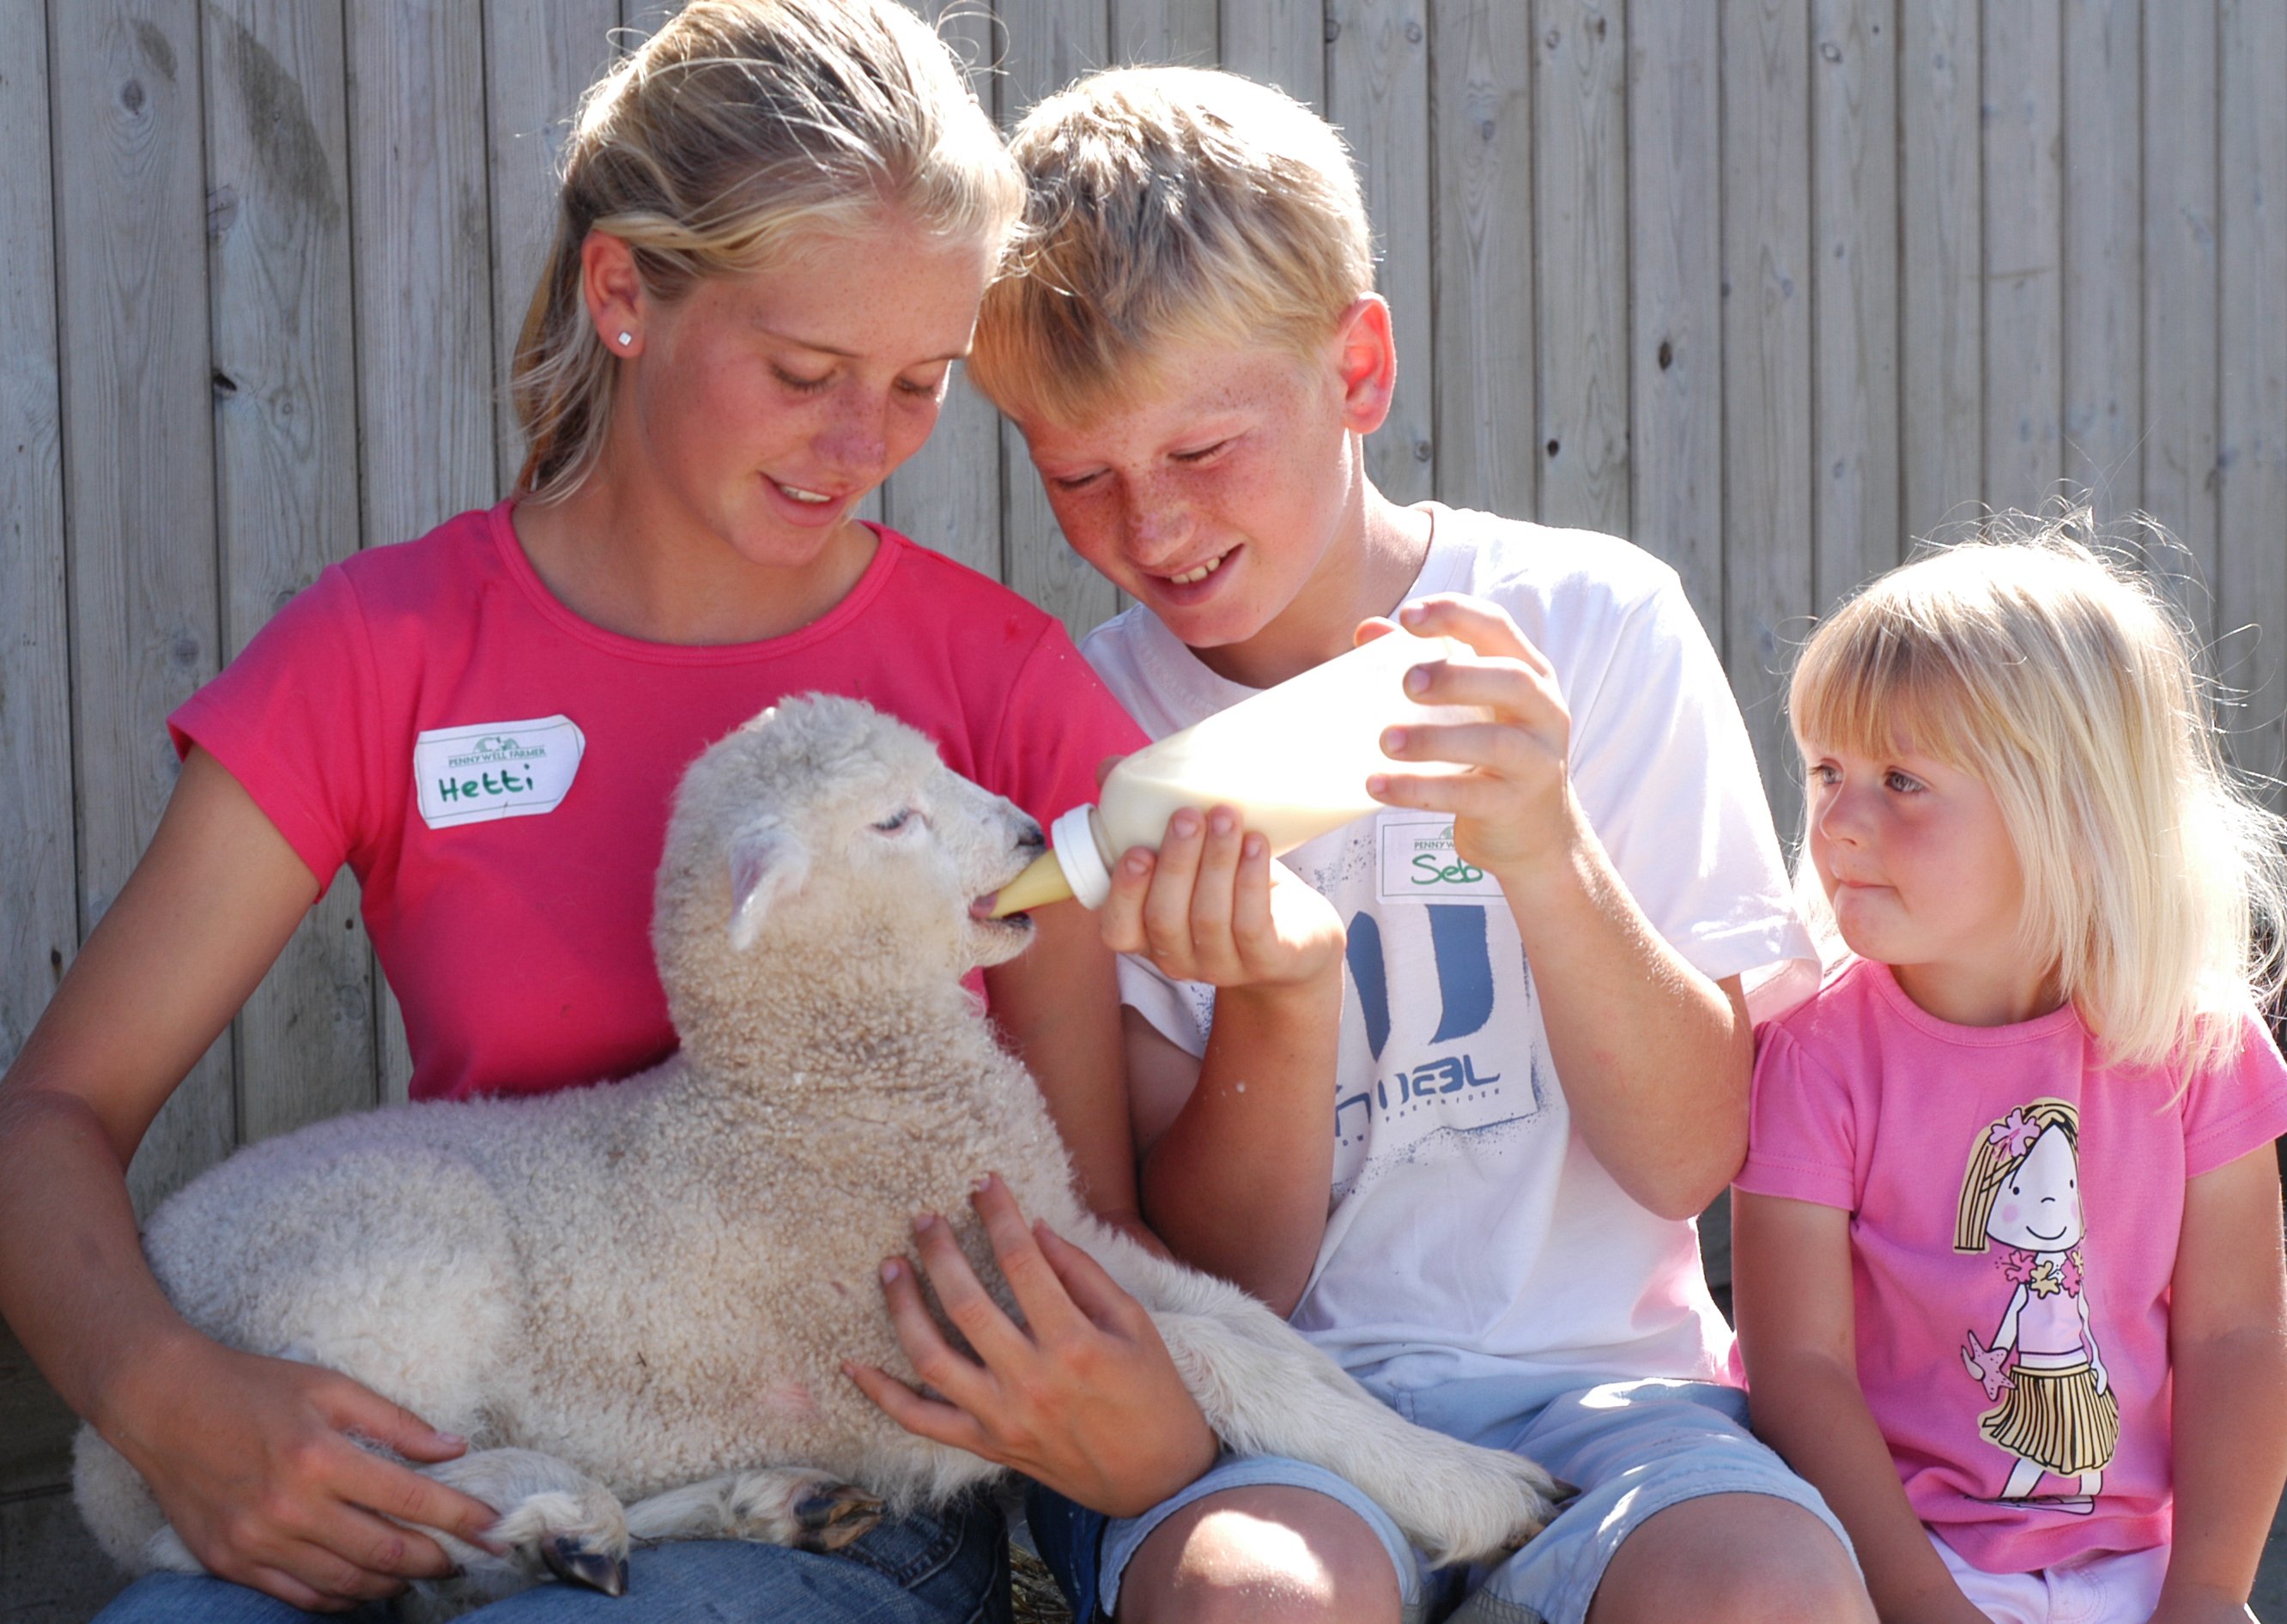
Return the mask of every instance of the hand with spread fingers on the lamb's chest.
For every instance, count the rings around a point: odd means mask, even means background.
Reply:
[[[871,1366],[844,1375],[908,1432],[1111,1516],[1157,1505],[1214,1464],[1214,1434],[1144,1306],[1079,1247],[1027,1226],[999,1178],[979,1185],[974,1205],[1025,1324],[979,1283],[951,1226],[924,1212],[913,1221],[922,1267],[977,1356],[945,1340],[913,1269],[890,1258],[880,1276],[897,1340],[940,1398]]]

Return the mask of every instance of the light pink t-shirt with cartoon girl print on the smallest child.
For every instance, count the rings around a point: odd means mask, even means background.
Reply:
[[[1850,1212],[1859,1386],[1974,1567],[2168,1542],[2184,1180],[2287,1132],[2287,1066],[2250,1011],[2239,1059],[2173,1093],[2070,1006],[1955,1027],[1866,961],[1761,1029],[1738,1187]]]

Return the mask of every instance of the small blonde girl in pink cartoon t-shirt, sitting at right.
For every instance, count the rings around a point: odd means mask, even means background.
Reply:
[[[2250,1617],[2287,1478],[2280,821],[2175,618],[2061,524],[1878,579],[1791,714],[1848,952],[1759,1034],[1756,1432],[1884,1619]]]

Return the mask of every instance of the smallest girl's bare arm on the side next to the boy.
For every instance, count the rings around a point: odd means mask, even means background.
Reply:
[[[1857,1382],[1850,1215],[1734,1194],[1738,1340],[1754,1430],[1850,1530],[1884,1624],[1983,1624],[1930,1549]]]

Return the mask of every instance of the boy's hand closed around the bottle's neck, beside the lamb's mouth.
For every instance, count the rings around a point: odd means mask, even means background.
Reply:
[[[1342,922],[1240,814],[1185,807],[1157,855],[1137,846],[1111,871],[1105,945],[1148,954],[1178,981],[1221,988],[1320,986],[1340,974]]]

